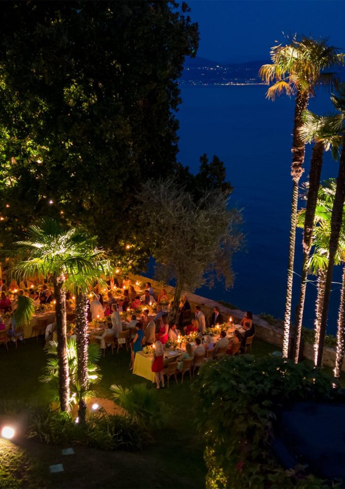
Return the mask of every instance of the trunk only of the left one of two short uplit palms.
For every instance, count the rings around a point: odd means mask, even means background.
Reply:
[[[69,411],[69,362],[67,357],[66,334],[66,295],[62,290],[63,282],[53,277],[54,294],[56,298],[55,316],[58,337],[58,362],[59,362],[59,396],[62,411]]]

